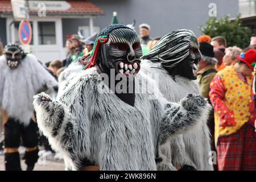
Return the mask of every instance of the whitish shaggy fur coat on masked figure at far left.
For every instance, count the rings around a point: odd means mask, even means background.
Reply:
[[[33,96],[42,90],[54,93],[58,83],[34,55],[28,54],[15,69],[0,56],[0,85],[0,107],[26,126],[34,111]]]

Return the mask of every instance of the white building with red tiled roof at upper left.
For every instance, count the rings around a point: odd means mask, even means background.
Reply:
[[[14,18],[13,10],[10,0],[0,0],[0,38],[4,45],[19,43],[20,20]],[[97,29],[93,19],[103,11],[86,1],[28,1],[28,13],[32,40],[24,47],[25,51],[34,53],[39,61],[46,63],[65,58],[67,35],[77,34],[78,29],[84,36],[93,34]]]

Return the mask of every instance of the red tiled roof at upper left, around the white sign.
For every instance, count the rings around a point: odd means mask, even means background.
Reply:
[[[103,14],[103,10],[88,1],[28,1],[28,13],[30,15],[38,14],[38,4],[40,2],[43,2],[46,6],[46,15],[81,16]],[[10,0],[0,0],[0,14],[13,14]]]

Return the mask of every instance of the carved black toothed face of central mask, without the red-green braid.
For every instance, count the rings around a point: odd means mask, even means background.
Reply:
[[[130,28],[118,28],[110,32],[109,40],[101,44],[97,64],[125,76],[139,72],[142,48],[139,36]]]

